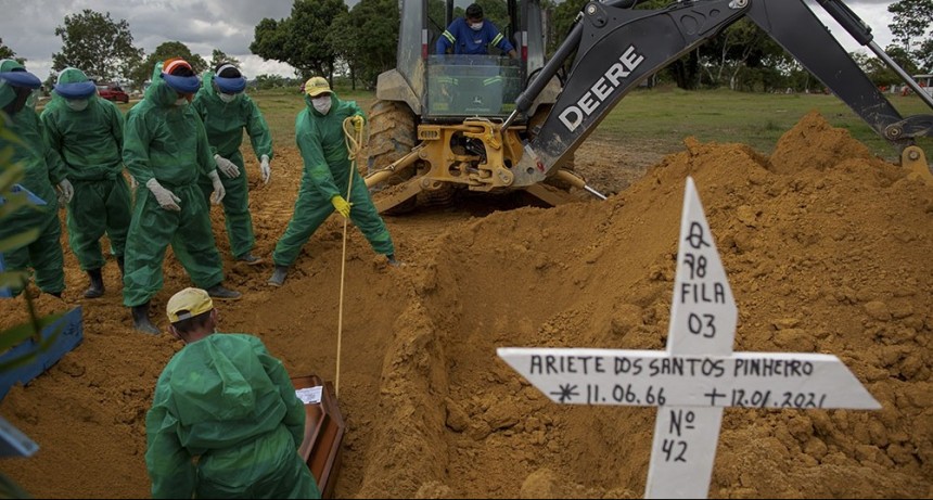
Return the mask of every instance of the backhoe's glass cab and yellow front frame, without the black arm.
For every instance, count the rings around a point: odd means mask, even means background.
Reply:
[[[539,0],[481,0],[484,20],[509,40],[516,56],[495,47],[487,54],[437,53],[437,40],[471,2],[400,3],[397,65],[379,76],[369,113],[366,181],[382,192],[374,196],[380,211],[446,203],[463,190],[510,191],[510,170],[521,159],[522,144],[561,91],[560,80],[551,78],[510,133],[499,133],[546,63],[544,13]],[[566,190],[525,189],[549,204],[570,200]]]

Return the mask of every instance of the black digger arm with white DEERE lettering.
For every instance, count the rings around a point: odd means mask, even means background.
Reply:
[[[933,110],[933,99],[872,41],[871,29],[840,0],[817,0],[862,46],[894,68]],[[915,138],[933,136],[933,114],[904,118],[849,57],[804,0],[698,0],[661,10],[632,10],[634,0],[590,1],[554,56],[519,97],[504,131],[574,56],[563,91],[514,168],[514,187],[549,176],[641,80],[747,17],[876,132],[902,153],[923,158]],[[909,155],[907,154],[909,153]],[[925,161],[924,163],[925,167]],[[929,175],[929,172],[926,172]]]

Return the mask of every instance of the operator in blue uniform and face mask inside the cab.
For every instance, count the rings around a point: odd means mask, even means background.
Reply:
[[[463,17],[457,17],[437,39],[437,54],[488,54],[489,46],[496,47],[515,59],[515,48],[499,28],[483,21],[483,8],[471,3]]]

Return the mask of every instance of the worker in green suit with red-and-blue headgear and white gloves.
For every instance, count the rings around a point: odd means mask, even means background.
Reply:
[[[215,298],[240,298],[221,284],[223,265],[197,185],[200,176],[208,176],[214,203],[223,198],[204,124],[189,105],[200,86],[187,61],[156,63],[144,99],[126,117],[123,159],[139,189],[127,234],[123,293],[124,305],[132,308],[133,328],[144,333],[158,333],[149,320],[149,304],[162,290],[169,244],[195,285]]]

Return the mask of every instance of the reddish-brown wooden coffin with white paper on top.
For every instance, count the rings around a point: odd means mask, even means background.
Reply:
[[[333,384],[318,375],[293,376],[292,384],[298,398],[305,402],[305,440],[298,454],[305,459],[318,482],[321,498],[334,498],[346,423]]]

